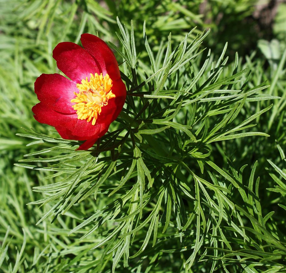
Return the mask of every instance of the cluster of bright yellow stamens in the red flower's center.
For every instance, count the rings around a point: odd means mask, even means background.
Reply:
[[[76,87],[80,90],[79,93],[74,92],[76,98],[71,102],[75,102],[72,106],[78,114],[78,119],[87,122],[92,120],[92,125],[96,123],[98,115],[101,113],[101,108],[108,104],[110,98],[115,98],[112,93],[112,80],[108,74],[104,77],[102,73],[100,75],[90,74],[90,80],[88,77],[82,80],[81,84],[77,84]]]

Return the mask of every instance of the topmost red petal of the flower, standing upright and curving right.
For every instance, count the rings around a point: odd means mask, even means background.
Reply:
[[[112,80],[120,78],[116,58],[109,46],[95,35],[84,33],[81,35],[84,49],[98,62],[103,75],[108,73]]]

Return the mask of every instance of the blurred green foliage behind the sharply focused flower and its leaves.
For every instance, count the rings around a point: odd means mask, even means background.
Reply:
[[[136,49],[142,63],[148,58],[142,34],[144,20],[148,41],[155,54],[160,43],[167,41],[170,32],[173,41],[180,42],[194,26],[197,29],[192,35],[211,29],[203,46],[212,50],[214,58],[220,56],[228,42],[226,55],[229,56],[230,67],[238,52],[241,68],[247,66],[252,72],[249,86],[271,84],[267,94],[281,99],[273,100],[271,111],[257,120],[257,130],[270,134],[268,139],[253,137],[222,143],[216,147],[214,160],[223,167],[226,161],[224,151],[230,152],[229,157],[236,167],[243,164],[251,166],[259,159],[259,176],[264,179],[264,188],[267,183],[272,187],[265,170],[266,159],[285,167],[282,152],[286,150],[285,1],[1,0],[0,268],[3,272],[72,272],[70,268],[80,259],[87,265],[86,270],[95,270],[92,263],[102,255],[101,250],[90,251],[96,238],[79,242],[76,235],[67,236],[69,223],[92,211],[93,202],[80,204],[54,223],[49,219],[36,226],[35,223],[49,207],[37,208],[26,204],[40,199],[40,193],[33,192],[32,187],[51,183],[53,177],[41,181],[49,175],[47,171],[24,169],[14,166],[14,163],[23,155],[37,150],[37,145],[27,146],[27,139],[16,136],[16,133],[23,132],[21,127],[43,133],[51,130],[51,127],[33,119],[31,108],[37,103],[33,91],[35,79],[42,73],[58,72],[52,58],[53,48],[61,41],[79,43],[80,35],[85,32],[118,45],[116,16],[128,27],[133,20]],[[249,113],[253,112],[253,107],[259,110],[263,105],[263,102],[257,106],[252,104]],[[249,116],[247,111],[244,116]],[[261,196],[270,198],[268,193]],[[285,195],[283,198],[285,200]],[[275,198],[273,200],[275,202]],[[281,219],[279,221],[285,223]],[[164,271],[164,262],[160,266],[162,272],[167,272]],[[176,268],[176,261],[169,268],[172,266]],[[109,267],[110,264],[106,266]],[[124,269],[128,270],[131,269]],[[78,272],[96,271],[85,271],[82,266]]]

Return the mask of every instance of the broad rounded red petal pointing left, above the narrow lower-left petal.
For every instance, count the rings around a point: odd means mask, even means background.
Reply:
[[[57,112],[76,112],[70,102],[75,97],[74,92],[78,92],[76,84],[59,74],[42,74],[35,81],[38,100]]]

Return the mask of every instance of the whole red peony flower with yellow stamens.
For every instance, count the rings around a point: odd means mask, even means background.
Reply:
[[[53,50],[59,74],[42,74],[35,81],[39,99],[34,118],[54,126],[63,139],[85,142],[86,150],[107,131],[119,115],[126,98],[117,61],[108,45],[97,36],[82,34],[84,48],[59,43]]]

